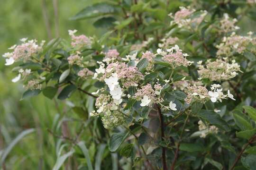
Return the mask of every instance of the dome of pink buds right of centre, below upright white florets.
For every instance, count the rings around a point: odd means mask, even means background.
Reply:
[[[170,64],[173,64],[174,67],[191,65],[191,61],[187,60],[186,57],[183,56],[183,53],[181,51],[176,51],[171,54],[166,54],[163,57],[163,60]]]

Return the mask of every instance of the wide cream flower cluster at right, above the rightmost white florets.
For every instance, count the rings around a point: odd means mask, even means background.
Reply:
[[[202,61],[199,61],[198,64],[200,77],[209,78],[211,81],[229,80],[237,76],[238,71],[241,72],[240,65],[234,59],[231,64],[227,60],[216,59],[211,61],[208,59],[205,63],[206,68],[202,65]]]

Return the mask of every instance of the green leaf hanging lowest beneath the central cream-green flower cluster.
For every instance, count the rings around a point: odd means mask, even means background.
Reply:
[[[127,138],[129,135],[129,132],[119,132],[115,133],[110,137],[110,144],[109,144],[109,149],[110,152],[115,152],[120,144],[124,142],[124,140]]]

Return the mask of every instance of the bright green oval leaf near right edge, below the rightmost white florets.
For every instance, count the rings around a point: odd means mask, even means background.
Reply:
[[[253,129],[252,125],[250,122],[244,118],[244,115],[241,111],[239,110],[234,110],[233,111],[233,118],[235,119],[236,125],[241,130],[248,130],[248,129]]]

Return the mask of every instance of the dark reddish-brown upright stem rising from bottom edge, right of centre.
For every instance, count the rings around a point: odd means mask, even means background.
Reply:
[[[156,104],[157,110],[158,110],[158,115],[160,119],[160,128],[161,128],[161,140],[164,141],[165,138],[165,122],[164,122],[164,117],[162,115],[161,108],[159,107],[158,104]],[[165,147],[162,146],[162,162],[163,162],[163,170],[167,170],[167,163],[166,163],[166,151]]]

